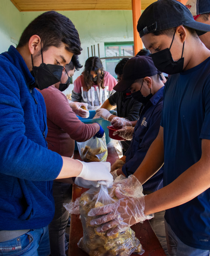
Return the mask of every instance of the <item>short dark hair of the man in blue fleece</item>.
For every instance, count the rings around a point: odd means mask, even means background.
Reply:
[[[33,35],[40,36],[43,51],[50,46],[59,47],[62,42],[66,50],[75,55],[82,51],[78,31],[72,21],[55,11],[42,13],[31,21],[23,31],[17,48],[25,46]]]

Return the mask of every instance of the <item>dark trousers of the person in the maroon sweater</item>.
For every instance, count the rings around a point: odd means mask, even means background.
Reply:
[[[55,215],[48,225],[50,256],[65,256],[65,251],[68,250],[68,244],[65,239],[65,228],[69,220],[69,212],[63,207],[63,203],[70,203],[72,185],[54,181],[52,188],[55,200]]]

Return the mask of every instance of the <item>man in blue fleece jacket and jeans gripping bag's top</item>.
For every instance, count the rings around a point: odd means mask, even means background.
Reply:
[[[112,183],[109,163],[62,157],[48,150],[45,139],[45,103],[34,88],[60,81],[63,67],[81,50],[73,23],[51,11],[28,25],[17,49],[0,54],[0,255],[49,255],[52,180]],[[101,128],[96,136],[103,136]]]

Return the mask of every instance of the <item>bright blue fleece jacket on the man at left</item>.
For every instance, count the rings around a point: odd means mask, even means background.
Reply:
[[[19,52],[0,54],[0,230],[37,229],[54,216],[52,180],[62,157],[48,150],[46,108]]]

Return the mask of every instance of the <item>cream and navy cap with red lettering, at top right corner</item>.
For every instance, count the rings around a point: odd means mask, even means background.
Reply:
[[[201,14],[210,13],[209,0],[188,0],[185,5],[196,20]]]

